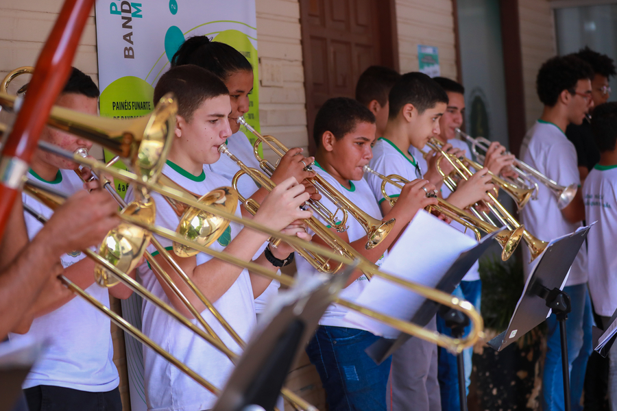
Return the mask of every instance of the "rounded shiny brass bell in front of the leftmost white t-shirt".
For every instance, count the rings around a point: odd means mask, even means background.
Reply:
[[[156,219],[154,200],[147,197],[143,201],[134,201],[122,210],[121,215],[152,225]],[[141,260],[150,238],[152,233],[148,230],[123,221],[101,242],[99,256],[123,273],[129,273]],[[95,280],[99,286],[112,287],[119,282],[115,278],[104,266],[95,265]]]

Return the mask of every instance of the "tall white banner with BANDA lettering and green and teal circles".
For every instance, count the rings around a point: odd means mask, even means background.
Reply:
[[[173,54],[186,38],[208,36],[252,64],[253,92],[244,118],[260,130],[254,0],[97,1],[96,23],[101,116],[130,119],[151,112],[154,86]],[[106,153],[106,160],[111,156]],[[124,195],[123,184],[116,188]],[[141,327],[141,299],[134,299],[123,301],[123,316]],[[142,347],[126,337],[132,410],[145,410]]]

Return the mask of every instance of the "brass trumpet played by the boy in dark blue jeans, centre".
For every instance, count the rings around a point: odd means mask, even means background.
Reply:
[[[390,205],[394,206],[397,198],[392,198],[387,195],[387,192],[385,190],[386,184],[392,184],[396,188],[400,188],[402,190],[403,186],[401,184],[407,184],[409,183],[409,180],[404,179],[400,175],[396,174],[385,176],[381,173],[378,173],[377,171],[374,171],[370,168],[370,166],[367,165],[364,166],[363,169],[365,173],[371,173],[383,180],[383,182],[381,183],[381,193],[383,194],[383,197],[387,199],[387,201],[389,201]],[[463,227],[472,230],[472,232],[474,232],[474,234],[476,235],[476,239],[478,241],[482,237],[479,230],[482,230],[483,232],[488,234],[498,231],[498,228],[494,227],[494,225],[486,223],[485,221],[482,221],[481,219],[478,219],[477,217],[466,213],[457,206],[448,203],[448,201],[444,199],[440,199],[439,197],[428,193],[426,194],[426,197],[435,197],[437,199],[437,206],[429,206],[429,208],[433,208],[438,212],[441,212],[449,219],[457,221],[457,223],[463,225]],[[510,258],[516,247],[518,247],[518,243],[520,242],[520,239],[522,237],[523,229],[524,227],[522,226],[513,230],[503,229],[495,237],[495,240],[497,240],[499,245],[503,248],[503,251],[501,253],[501,259],[503,261]]]

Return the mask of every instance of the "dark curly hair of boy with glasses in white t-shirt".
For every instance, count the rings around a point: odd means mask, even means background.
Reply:
[[[593,78],[594,71],[588,63],[574,55],[558,55],[540,67],[535,80],[537,96],[544,105],[553,107],[562,91],[573,95],[579,80]]]

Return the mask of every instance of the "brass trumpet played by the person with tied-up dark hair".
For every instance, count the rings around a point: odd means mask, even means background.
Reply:
[[[269,164],[269,162],[263,158],[259,157],[259,145],[261,142],[265,143],[270,147],[279,157],[282,158],[283,155],[289,150],[285,145],[282,144],[279,140],[274,138],[273,136],[262,136],[260,133],[256,131],[249,123],[247,123],[243,117],[238,118],[238,123],[246,127],[247,130],[252,132],[257,137],[254,149],[254,155],[257,158],[259,165],[265,171],[265,173],[272,175],[274,173],[275,167]],[[313,171],[311,169],[311,164],[306,166],[306,171]],[[332,201],[333,204],[337,207],[337,211],[332,213],[326,210],[319,202],[314,200],[308,201],[308,206],[319,216],[324,219],[324,221],[328,222],[330,227],[337,229],[337,231],[341,232],[344,229],[341,227],[345,226],[347,221],[348,214],[351,214],[356,221],[358,221],[362,227],[365,229],[365,232],[368,237],[368,241],[365,245],[366,249],[372,249],[376,245],[378,245],[381,240],[383,240],[390,230],[392,226],[394,226],[394,220],[390,221],[380,221],[378,219],[374,219],[372,216],[366,214],[358,208],[354,203],[349,201],[345,196],[339,192],[336,188],[332,187],[332,185],[324,179],[319,173],[315,173],[315,177],[313,177],[312,181],[313,185],[319,191],[321,195],[326,197],[328,200]],[[341,210],[343,216],[340,221],[337,221],[338,210]]]

